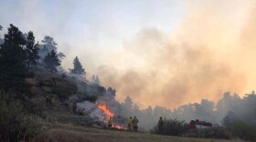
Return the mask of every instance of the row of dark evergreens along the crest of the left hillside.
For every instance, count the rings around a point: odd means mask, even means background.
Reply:
[[[3,26],[0,25],[0,31]],[[2,83],[10,80],[22,78],[31,75],[30,66],[42,64],[53,72],[57,72],[57,66],[61,65],[61,59],[65,55],[57,51],[57,43],[48,35],[41,41],[36,42],[32,31],[22,33],[15,25],[10,25],[7,33],[4,35],[3,43],[0,45],[0,79]],[[78,56],[74,58],[73,68],[69,69],[73,74],[85,74],[84,68],[80,64]],[[7,90],[12,87],[10,84],[1,86],[0,89]]]

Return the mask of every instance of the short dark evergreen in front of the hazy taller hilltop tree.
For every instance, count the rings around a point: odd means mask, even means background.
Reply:
[[[46,67],[54,72],[57,72],[56,67],[60,66],[59,57],[54,50],[51,50],[51,52],[48,53],[47,56],[45,56],[44,62],[46,64]]]

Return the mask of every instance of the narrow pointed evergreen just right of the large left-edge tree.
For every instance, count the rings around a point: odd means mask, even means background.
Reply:
[[[39,52],[39,44],[35,44],[35,36],[33,32],[28,32],[27,34],[27,66],[37,65],[37,59],[40,57],[38,56]]]

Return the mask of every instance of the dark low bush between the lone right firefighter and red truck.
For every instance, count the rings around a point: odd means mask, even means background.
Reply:
[[[177,119],[164,119],[164,132],[160,132],[157,126],[151,131],[155,134],[164,134],[170,136],[182,136],[187,130],[185,121]]]

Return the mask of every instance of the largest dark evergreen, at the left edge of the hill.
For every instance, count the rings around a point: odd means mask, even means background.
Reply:
[[[25,88],[24,80],[29,75],[26,60],[26,39],[16,26],[10,25],[0,48],[0,90]]]

